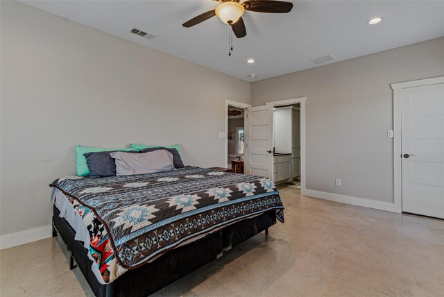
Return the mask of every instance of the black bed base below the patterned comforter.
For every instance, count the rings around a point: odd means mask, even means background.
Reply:
[[[184,275],[195,271],[222,256],[242,241],[257,235],[276,223],[275,210],[265,212],[252,219],[244,219],[222,230],[185,246],[175,248],[151,263],[123,273],[113,282],[103,285],[92,272],[92,260],[82,242],[74,239],[76,232],[69,223],[59,217],[56,205],[53,208],[53,237],[60,235],[69,251],[69,268],[80,268],[96,296],[148,296],[166,287]],[[74,261],[77,265],[74,265]]]

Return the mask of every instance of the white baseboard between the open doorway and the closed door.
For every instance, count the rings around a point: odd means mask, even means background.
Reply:
[[[398,210],[399,207],[396,207],[395,203],[388,203],[384,201],[371,200],[367,198],[359,198],[359,197],[346,196],[341,194],[315,191],[312,189],[305,189],[302,195],[313,198],[321,198],[325,200],[341,202],[341,203],[348,203],[352,205],[375,208],[376,210],[386,210],[387,212],[400,213],[400,210]]]

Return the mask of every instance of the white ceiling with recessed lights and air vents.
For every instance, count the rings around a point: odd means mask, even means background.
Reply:
[[[247,36],[234,38],[228,56],[228,25],[217,17],[182,27],[215,1],[21,2],[246,81],[316,67],[310,59],[327,54],[341,61],[444,35],[444,1],[293,1],[289,14],[246,11]],[[383,22],[366,24],[375,16]],[[133,26],[157,37],[129,33]]]

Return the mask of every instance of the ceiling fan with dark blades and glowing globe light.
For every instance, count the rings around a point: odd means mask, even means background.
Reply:
[[[293,8],[293,3],[285,1],[246,0],[242,3],[239,3],[241,0],[213,1],[220,2],[216,9],[203,12],[203,14],[185,22],[182,26],[189,28],[217,15],[222,22],[231,26],[232,31],[237,38],[242,38],[247,35],[244,20],[242,19],[245,10],[254,12],[287,13]]]

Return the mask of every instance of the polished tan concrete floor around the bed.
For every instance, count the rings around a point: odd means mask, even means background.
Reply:
[[[444,296],[444,221],[280,189],[286,221],[153,296]],[[49,238],[0,252],[0,295],[93,296]]]

